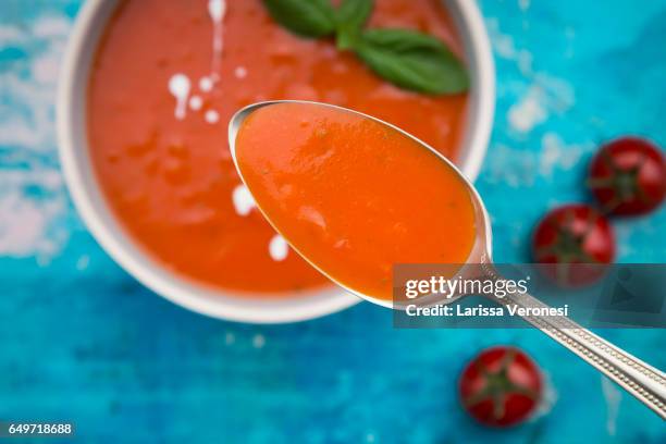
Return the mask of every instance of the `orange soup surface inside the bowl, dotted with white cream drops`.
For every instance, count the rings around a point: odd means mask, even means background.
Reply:
[[[369,26],[420,29],[460,53],[440,0],[378,0]],[[285,30],[260,0],[120,3],[92,63],[87,102],[91,160],[111,209],[173,272],[281,297],[330,284],[285,249],[230,156],[229,119],[270,99],[377,115],[455,158],[467,97],[402,90],[331,39]]]

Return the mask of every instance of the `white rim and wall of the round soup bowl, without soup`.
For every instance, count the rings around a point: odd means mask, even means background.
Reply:
[[[256,322],[295,322],[329,314],[360,301],[336,287],[267,300],[225,292],[168,271],[121,226],[100,190],[89,158],[86,89],[99,38],[118,0],[89,0],[82,8],[62,66],[58,95],[60,160],[74,203],[109,255],[139,282],[182,307],[215,318]],[[485,155],[495,104],[495,71],[483,20],[472,0],[445,0],[461,37],[471,73],[467,127],[459,148],[460,170],[476,178]]]

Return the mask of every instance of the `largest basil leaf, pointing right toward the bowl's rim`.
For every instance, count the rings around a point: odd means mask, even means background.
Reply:
[[[416,30],[366,30],[356,52],[378,75],[405,89],[458,94],[469,88],[467,71],[453,52]]]

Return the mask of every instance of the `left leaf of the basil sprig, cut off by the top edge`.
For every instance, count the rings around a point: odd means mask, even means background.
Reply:
[[[330,0],[263,0],[269,13],[292,33],[324,37],[335,32],[335,10]]]

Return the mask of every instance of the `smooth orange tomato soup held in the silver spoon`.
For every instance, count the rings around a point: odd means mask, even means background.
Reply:
[[[238,169],[298,251],[362,294],[391,299],[394,263],[464,263],[476,238],[470,190],[404,134],[345,110],[279,103],[249,114]]]

